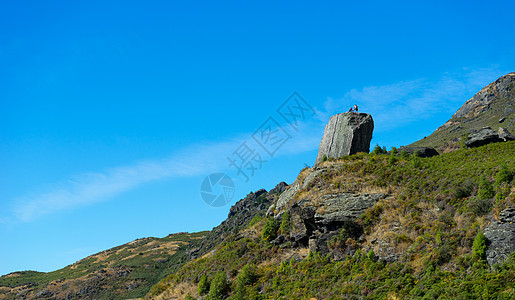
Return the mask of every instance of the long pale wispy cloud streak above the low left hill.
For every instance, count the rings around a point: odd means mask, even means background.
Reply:
[[[141,184],[171,177],[195,176],[217,164],[216,155],[234,147],[235,141],[188,147],[155,160],[144,160],[96,173],[80,174],[15,201],[13,214],[24,222],[56,211],[71,209],[112,198]]]

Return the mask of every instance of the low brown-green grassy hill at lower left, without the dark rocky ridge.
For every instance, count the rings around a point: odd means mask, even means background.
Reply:
[[[140,297],[186,262],[186,249],[206,232],[144,238],[88,256],[60,270],[15,272],[0,277],[0,299],[127,299]]]

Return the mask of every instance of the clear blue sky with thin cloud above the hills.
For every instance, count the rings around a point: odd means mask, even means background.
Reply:
[[[0,274],[145,236],[209,230],[291,183],[357,103],[372,144],[431,134],[514,71],[510,1],[16,1],[0,9]],[[294,93],[313,110],[291,123]],[[288,103],[288,102],[287,102]],[[272,121],[270,121],[272,120]],[[288,139],[252,139],[272,122]],[[292,126],[292,125],[295,125]],[[248,181],[228,164],[261,157]],[[235,184],[214,208],[213,172]]]

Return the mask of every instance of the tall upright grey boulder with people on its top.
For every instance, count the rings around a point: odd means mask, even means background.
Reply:
[[[370,140],[374,130],[372,116],[364,113],[346,112],[332,116],[325,126],[320,142],[316,164],[327,158],[370,151]]]

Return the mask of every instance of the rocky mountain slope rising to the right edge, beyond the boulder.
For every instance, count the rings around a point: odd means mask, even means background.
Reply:
[[[515,131],[515,72],[481,89],[449,121],[412,146],[432,147],[439,152],[456,150],[463,136],[486,126],[495,131],[499,127]]]

